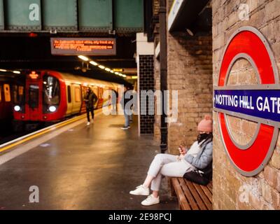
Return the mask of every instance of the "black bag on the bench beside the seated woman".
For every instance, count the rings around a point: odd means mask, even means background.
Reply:
[[[196,169],[184,174],[183,178],[194,183],[207,186],[211,181],[213,174],[212,162],[204,169]]]

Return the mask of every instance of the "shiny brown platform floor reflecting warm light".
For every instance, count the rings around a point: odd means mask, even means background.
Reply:
[[[167,179],[160,204],[143,207],[145,196],[129,194],[144,181],[159,146],[138,137],[137,117],[130,130],[121,130],[123,123],[123,116],[99,114],[90,127],[85,120],[66,127],[0,165],[0,209],[178,209]],[[39,203],[29,203],[30,186],[38,186]]]

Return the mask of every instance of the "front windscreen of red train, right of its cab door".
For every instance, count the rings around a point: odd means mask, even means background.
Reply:
[[[59,80],[53,76],[43,78],[43,101],[46,106],[58,105],[60,100]]]

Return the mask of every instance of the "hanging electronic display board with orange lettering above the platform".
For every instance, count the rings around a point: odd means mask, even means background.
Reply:
[[[116,38],[50,38],[52,55],[116,55]]]

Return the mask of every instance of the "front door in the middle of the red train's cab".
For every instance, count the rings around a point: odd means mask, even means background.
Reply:
[[[31,80],[27,82],[27,110],[28,120],[41,119],[42,111],[42,86],[39,80]]]

